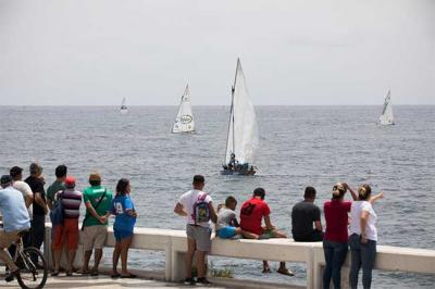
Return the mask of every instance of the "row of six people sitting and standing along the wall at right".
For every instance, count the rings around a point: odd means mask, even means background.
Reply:
[[[206,278],[206,254],[211,249],[212,224],[215,224],[216,236],[222,239],[270,239],[287,238],[271,221],[271,209],[264,201],[265,190],[257,188],[251,199],[245,201],[237,219],[237,200],[229,196],[224,204],[214,209],[212,198],[203,191],[204,177],[196,175],[192,189],[185,192],[175,204],[174,212],[187,219],[186,285],[208,285]],[[349,191],[353,201],[345,201]],[[325,231],[321,221],[321,210],[314,204],[316,191],[307,187],[303,201],[295,204],[291,211],[291,234],[297,242],[323,241],[325,269],[323,287],[341,286],[341,266],[348,248],[351,251],[349,285],[358,287],[358,275],[362,267],[363,288],[371,288],[372,269],[376,255],[376,214],[372,204],[383,198],[383,192],[372,196],[371,187],[361,185],[357,192],[346,183],[333,187],[331,200],[324,203]],[[217,212],[216,212],[217,211]],[[350,224],[349,224],[350,214]],[[263,225],[264,224],[264,225]],[[350,228],[348,230],[348,227]],[[191,265],[197,255],[198,278],[192,278]],[[263,273],[270,273],[268,261],[263,261]],[[279,263],[278,273],[293,276],[285,262]]]

